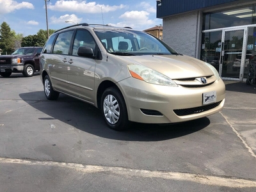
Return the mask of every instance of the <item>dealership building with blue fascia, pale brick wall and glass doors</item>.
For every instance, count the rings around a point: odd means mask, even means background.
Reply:
[[[156,0],[163,41],[207,61],[222,79],[245,81],[256,58],[256,1]]]

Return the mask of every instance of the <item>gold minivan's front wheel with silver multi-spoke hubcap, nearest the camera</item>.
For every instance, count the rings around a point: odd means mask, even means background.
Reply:
[[[117,88],[110,87],[103,92],[100,107],[109,128],[116,131],[127,129],[129,125],[127,108],[124,97]]]

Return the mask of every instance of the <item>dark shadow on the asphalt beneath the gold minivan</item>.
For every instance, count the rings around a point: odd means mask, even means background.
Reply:
[[[86,104],[67,95],[60,94],[58,100],[42,99],[44,92],[20,93],[20,98],[30,106],[45,115],[35,122],[43,120],[60,120],[81,131],[88,132],[102,138],[124,141],[161,141],[179,138],[200,131],[210,124],[209,118],[200,118],[180,124],[138,124],[131,123],[126,131],[114,131],[109,129],[100,110],[90,104]]]

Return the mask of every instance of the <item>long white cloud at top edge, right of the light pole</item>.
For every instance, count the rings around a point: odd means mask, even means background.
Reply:
[[[124,4],[120,4],[118,6],[109,6],[108,4],[96,4],[96,2],[89,2],[86,1],[65,1],[60,0],[57,1],[55,4],[49,4],[47,8],[54,11],[59,12],[77,12],[77,13],[107,13],[113,12],[118,9],[125,8]]]

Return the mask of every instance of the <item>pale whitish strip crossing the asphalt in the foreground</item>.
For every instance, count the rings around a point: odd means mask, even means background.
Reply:
[[[0,163],[8,164],[26,164],[26,165],[40,165],[40,166],[58,166],[63,168],[72,168],[77,172],[86,173],[100,173],[110,172],[117,175],[129,175],[131,177],[144,177],[144,178],[159,178],[168,180],[186,180],[190,182],[196,182],[199,184],[205,184],[208,186],[224,186],[228,188],[256,188],[256,181],[246,179],[236,179],[234,177],[216,177],[209,175],[199,175],[193,173],[180,173],[180,172],[164,172],[164,171],[150,171],[150,170],[138,170],[132,168],[122,168],[116,166],[93,166],[83,165],[77,163],[58,163],[54,161],[28,161],[22,159],[9,159],[1,158]]]

